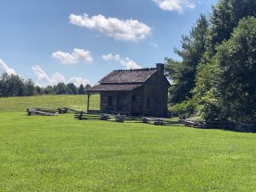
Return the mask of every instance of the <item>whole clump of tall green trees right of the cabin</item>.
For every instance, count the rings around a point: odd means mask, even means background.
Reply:
[[[181,61],[166,58],[172,112],[256,123],[256,1],[218,1],[181,44]]]

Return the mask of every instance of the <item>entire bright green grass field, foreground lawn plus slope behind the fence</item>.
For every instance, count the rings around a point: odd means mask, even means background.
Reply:
[[[28,107],[82,110],[86,97],[0,98],[0,191],[256,191],[256,134],[27,117]]]

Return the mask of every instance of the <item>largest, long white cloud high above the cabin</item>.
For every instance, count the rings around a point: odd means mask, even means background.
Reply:
[[[102,34],[125,41],[137,41],[146,38],[151,28],[138,20],[119,20],[117,18],[106,18],[103,15],[69,15],[70,23],[89,29],[95,29]]]

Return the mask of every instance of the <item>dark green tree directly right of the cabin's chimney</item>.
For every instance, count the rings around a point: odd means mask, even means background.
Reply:
[[[208,21],[205,15],[196,21],[189,36],[182,37],[182,49],[175,49],[182,61],[166,58],[166,75],[172,79],[170,102],[178,103],[191,98],[195,86],[195,72],[205,52]]]

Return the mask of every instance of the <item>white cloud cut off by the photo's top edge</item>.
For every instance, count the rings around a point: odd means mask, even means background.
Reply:
[[[195,9],[195,3],[192,0],[154,0],[160,9],[166,11],[177,11],[182,14],[184,9]]]

